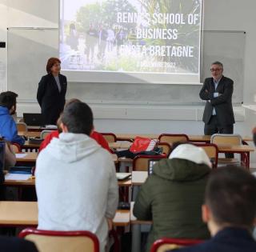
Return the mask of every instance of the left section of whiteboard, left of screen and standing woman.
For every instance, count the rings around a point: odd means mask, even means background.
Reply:
[[[46,62],[58,57],[58,29],[9,28],[7,86],[19,99],[35,99]]]

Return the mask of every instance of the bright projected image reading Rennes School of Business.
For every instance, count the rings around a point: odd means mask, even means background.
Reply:
[[[62,0],[63,70],[198,74],[202,0]]]

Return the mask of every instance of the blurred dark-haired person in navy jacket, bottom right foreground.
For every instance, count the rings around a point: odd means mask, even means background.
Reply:
[[[202,218],[211,238],[177,252],[253,252],[251,229],[256,213],[256,178],[240,167],[214,170],[206,186]]]

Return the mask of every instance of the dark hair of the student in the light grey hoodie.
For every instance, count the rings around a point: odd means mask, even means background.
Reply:
[[[93,112],[84,102],[71,102],[65,106],[61,121],[70,133],[90,135],[93,129]]]

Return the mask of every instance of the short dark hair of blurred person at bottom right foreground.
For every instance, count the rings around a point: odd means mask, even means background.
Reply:
[[[205,200],[218,225],[250,227],[256,217],[256,178],[242,167],[213,170]]]

